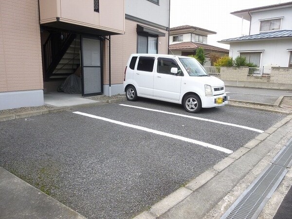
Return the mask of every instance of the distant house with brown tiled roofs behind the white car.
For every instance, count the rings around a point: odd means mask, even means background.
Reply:
[[[211,66],[211,55],[223,56],[229,53],[226,49],[208,45],[208,35],[216,34],[214,31],[190,25],[172,27],[169,30],[168,54],[196,55],[196,50],[201,47],[204,49],[206,57],[204,66]]]

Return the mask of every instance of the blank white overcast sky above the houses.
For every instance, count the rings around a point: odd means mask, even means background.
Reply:
[[[229,49],[222,39],[249,35],[249,21],[231,12],[292,0],[170,0],[170,27],[191,25],[217,32],[208,35],[208,44]]]

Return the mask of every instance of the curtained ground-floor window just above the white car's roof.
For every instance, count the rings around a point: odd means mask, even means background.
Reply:
[[[157,54],[157,37],[137,36],[137,53]]]

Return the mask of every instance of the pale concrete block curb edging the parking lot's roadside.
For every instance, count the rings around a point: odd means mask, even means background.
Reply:
[[[235,161],[240,159],[244,154],[246,154],[247,152],[249,152],[251,149],[255,148],[256,146],[260,145],[260,143],[264,141],[269,141],[270,143],[274,144],[274,142],[271,142],[271,139],[274,138],[274,136],[273,138],[271,138],[272,134],[275,131],[277,131],[279,128],[287,124],[290,120],[292,120],[292,115],[287,116],[280,122],[276,123],[273,127],[266,130],[264,133],[259,134],[258,136],[256,136],[255,139],[251,140],[246,145],[237,149],[237,151],[235,151],[234,153],[232,153],[231,155],[229,155],[228,157],[220,161],[218,164],[215,164],[211,169],[208,169],[207,171],[203,172],[201,175],[193,178],[185,186],[179,188],[175,192],[166,196],[164,199],[154,204],[150,208],[150,210],[142,212],[141,214],[136,216],[134,219],[143,219],[144,216],[146,215],[147,217],[145,218],[158,218],[164,213],[170,211],[175,206],[185,201],[189,196],[192,195],[192,193],[196,192],[203,185],[210,182],[215,176],[219,175],[221,171],[223,171],[224,169],[232,165]],[[163,218],[167,218],[167,217],[165,216]]]

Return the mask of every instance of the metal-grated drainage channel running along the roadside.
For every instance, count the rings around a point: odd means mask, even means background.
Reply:
[[[292,139],[221,219],[256,219],[292,165]]]

